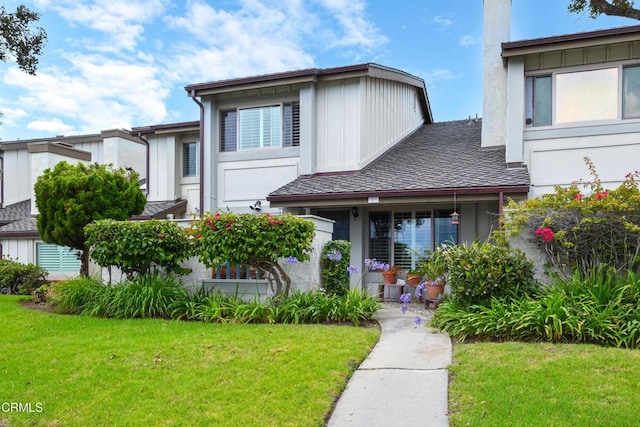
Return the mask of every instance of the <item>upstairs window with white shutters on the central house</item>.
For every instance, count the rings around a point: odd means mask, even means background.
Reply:
[[[297,147],[300,103],[240,108],[220,113],[220,151]]]

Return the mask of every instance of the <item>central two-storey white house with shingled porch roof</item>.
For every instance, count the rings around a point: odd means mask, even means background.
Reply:
[[[485,238],[505,197],[529,190],[504,147],[481,148],[480,120],[433,123],[423,80],[399,70],[360,64],[186,90],[202,110],[204,210],[333,219],[356,265],[406,271],[438,243]]]

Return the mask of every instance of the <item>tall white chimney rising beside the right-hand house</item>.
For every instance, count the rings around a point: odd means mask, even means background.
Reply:
[[[502,43],[511,37],[511,0],[484,0],[482,146],[506,145],[507,68]]]

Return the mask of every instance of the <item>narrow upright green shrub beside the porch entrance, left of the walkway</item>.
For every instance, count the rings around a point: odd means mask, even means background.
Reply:
[[[351,242],[332,240],[322,248],[320,274],[322,286],[327,294],[345,295],[349,291],[349,263]]]

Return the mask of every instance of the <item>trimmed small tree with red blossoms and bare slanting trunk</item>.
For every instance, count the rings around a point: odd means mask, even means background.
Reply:
[[[230,261],[256,267],[278,296],[288,295],[291,278],[278,263],[283,257],[310,258],[315,226],[293,215],[207,213],[195,219],[190,234],[195,251],[209,268]]]

